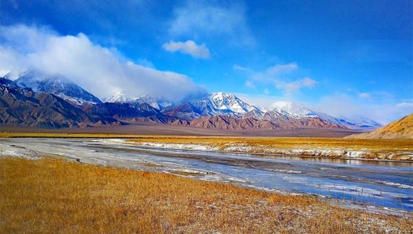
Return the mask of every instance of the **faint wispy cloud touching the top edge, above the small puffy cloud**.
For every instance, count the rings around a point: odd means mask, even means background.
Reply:
[[[191,37],[220,34],[230,36],[232,41],[241,44],[254,41],[246,25],[244,6],[237,3],[220,6],[210,1],[187,1],[173,10],[169,32]]]

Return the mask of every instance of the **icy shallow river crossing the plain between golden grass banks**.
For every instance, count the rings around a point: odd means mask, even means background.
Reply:
[[[282,193],[320,195],[375,209],[413,211],[413,163],[265,156],[157,149],[120,140],[1,139],[3,150],[22,154],[57,154],[96,164],[152,171],[195,171],[200,180],[235,182]]]

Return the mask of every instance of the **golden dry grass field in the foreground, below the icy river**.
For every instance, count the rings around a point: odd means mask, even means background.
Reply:
[[[231,184],[0,159],[0,233],[409,233],[412,225]]]

